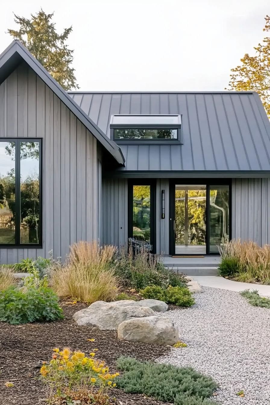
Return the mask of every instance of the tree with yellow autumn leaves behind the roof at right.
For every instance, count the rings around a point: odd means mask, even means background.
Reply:
[[[266,15],[263,31],[270,32],[270,17]],[[255,91],[261,97],[270,118],[270,37],[264,37],[255,49],[255,56],[246,53],[242,64],[232,69],[229,87],[225,90]]]

